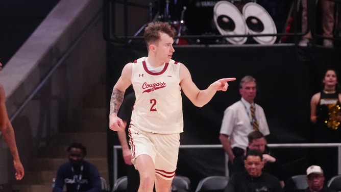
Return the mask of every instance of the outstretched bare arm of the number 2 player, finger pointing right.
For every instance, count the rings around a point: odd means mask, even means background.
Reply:
[[[193,83],[189,70],[185,65],[180,65],[180,85],[186,97],[197,107],[206,105],[214,96],[216,91],[226,91],[229,81],[236,78],[224,78],[210,84],[207,89],[200,90]]]

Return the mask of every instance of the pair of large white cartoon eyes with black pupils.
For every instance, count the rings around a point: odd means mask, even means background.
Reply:
[[[267,11],[260,5],[250,2],[243,6],[242,12],[230,2],[217,2],[213,9],[216,28],[221,35],[262,35],[276,34],[276,26]],[[248,37],[226,37],[232,44],[243,44]],[[255,36],[260,44],[273,44],[276,36]]]

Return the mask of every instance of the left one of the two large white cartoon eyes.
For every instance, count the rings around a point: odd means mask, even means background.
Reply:
[[[220,1],[214,5],[213,18],[215,26],[222,35],[248,34],[246,22],[240,11],[232,3]],[[247,37],[226,37],[232,44],[243,44]]]

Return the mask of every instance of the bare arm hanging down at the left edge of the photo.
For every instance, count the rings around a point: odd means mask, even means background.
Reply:
[[[23,166],[19,158],[19,153],[15,142],[14,130],[7,114],[7,109],[5,105],[5,90],[1,84],[0,84],[0,130],[3,133],[3,136],[13,156],[13,164],[16,170],[15,178],[17,180],[21,180],[22,177],[25,175],[25,172],[23,170]]]

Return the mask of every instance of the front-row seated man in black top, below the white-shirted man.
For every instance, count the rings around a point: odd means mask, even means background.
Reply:
[[[282,191],[279,180],[268,173],[262,172],[263,156],[258,150],[248,150],[244,165],[246,171],[234,173],[225,192],[278,192]]]

